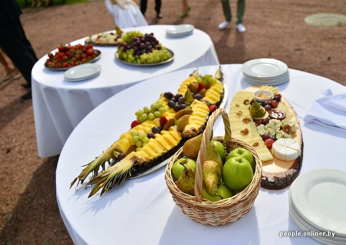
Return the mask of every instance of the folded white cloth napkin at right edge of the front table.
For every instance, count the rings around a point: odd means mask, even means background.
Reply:
[[[346,93],[333,95],[330,89],[322,89],[304,121],[346,132]]]

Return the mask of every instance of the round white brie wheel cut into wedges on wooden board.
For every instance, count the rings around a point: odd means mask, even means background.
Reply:
[[[273,143],[271,153],[280,160],[293,161],[300,155],[301,147],[294,139],[281,138]]]

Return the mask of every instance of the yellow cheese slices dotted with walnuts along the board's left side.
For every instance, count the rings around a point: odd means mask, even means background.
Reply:
[[[253,146],[262,162],[268,162],[273,160],[273,156],[264,144],[262,137],[258,134],[256,124],[250,115],[249,106],[252,98],[253,92],[249,91],[238,91],[234,95],[229,112],[231,133],[233,138],[242,140]],[[245,118],[250,118],[250,121],[243,121]],[[242,132],[245,129],[248,130],[247,134]]]

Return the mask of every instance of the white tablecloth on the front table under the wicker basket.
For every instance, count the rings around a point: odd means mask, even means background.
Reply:
[[[213,74],[217,66],[201,67],[202,74]],[[224,83],[229,88],[229,105],[233,95],[247,88],[240,64],[222,65]],[[146,99],[141,90],[150,91],[162,81],[161,91],[176,91],[176,80],[183,81],[192,69],[158,76],[115,94],[89,113],[68,138],[58,161],[56,172],[57,199],[61,217],[73,241],[78,245],[176,245],[176,244],[250,244],[250,245],[305,245],[320,244],[311,237],[280,237],[280,232],[303,232],[288,212],[288,190],[261,188],[250,212],[238,221],[221,227],[193,222],[176,207],[166,186],[161,168],[149,175],[126,180],[120,187],[99,197],[87,198],[91,188],[70,183],[89,163],[129,129],[135,111],[150,105],[158,98]],[[320,168],[346,170],[346,133],[320,126],[305,124],[303,118],[316,95],[324,88],[334,94],[345,93],[346,87],[325,77],[289,69],[288,82],[278,85],[300,120],[304,159],[301,173]],[[175,82],[174,82],[175,81]],[[116,107],[119,101],[137,95],[134,105]],[[145,103],[140,102],[145,101]],[[107,119],[102,115],[113,110]],[[119,116],[121,115],[121,116]],[[213,127],[214,136],[223,135],[222,120]],[[76,191],[77,189],[77,191]]]

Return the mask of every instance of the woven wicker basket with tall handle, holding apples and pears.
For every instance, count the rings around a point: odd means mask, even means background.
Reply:
[[[225,125],[225,136],[213,137],[212,140],[222,142],[227,153],[237,147],[243,147],[251,151],[256,162],[256,170],[252,181],[243,191],[230,198],[211,202],[202,198],[202,169],[207,144],[212,133],[212,126],[219,115],[222,115]],[[257,151],[252,146],[246,142],[231,137],[230,121],[228,114],[224,109],[217,109],[211,114],[206,129],[203,132],[202,144],[196,161],[195,196],[182,192],[176,187],[173,180],[172,166],[174,162],[181,157],[184,157],[182,148],[172,156],[171,160],[167,164],[165,180],[170,193],[172,194],[173,201],[184,214],[197,223],[211,226],[224,226],[238,220],[250,211],[260,189],[262,162],[260,161]]]

